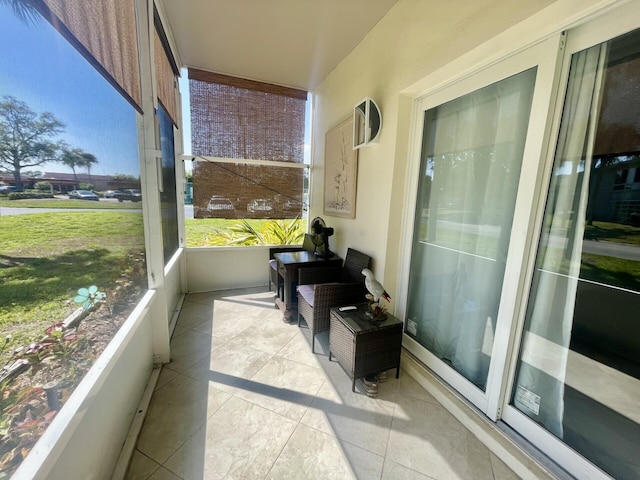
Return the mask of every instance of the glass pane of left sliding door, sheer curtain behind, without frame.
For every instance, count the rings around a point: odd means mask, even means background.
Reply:
[[[531,68],[424,113],[407,331],[481,390],[535,79]]]

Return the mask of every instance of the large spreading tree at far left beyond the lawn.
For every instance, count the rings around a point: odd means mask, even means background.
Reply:
[[[37,114],[29,106],[6,95],[0,102],[0,171],[13,174],[22,188],[21,171],[55,161],[61,143],[51,140],[64,131],[53,114]]]

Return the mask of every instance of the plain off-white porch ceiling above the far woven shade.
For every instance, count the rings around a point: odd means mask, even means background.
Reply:
[[[314,90],[397,0],[161,0],[183,66]]]

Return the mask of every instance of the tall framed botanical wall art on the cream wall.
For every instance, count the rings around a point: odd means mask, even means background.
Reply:
[[[358,151],[353,149],[353,118],[329,130],[324,145],[324,214],[355,218]]]

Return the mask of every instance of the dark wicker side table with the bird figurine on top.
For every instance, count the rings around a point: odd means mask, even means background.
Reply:
[[[329,328],[329,360],[335,357],[351,379],[355,392],[356,379],[396,369],[400,375],[402,321],[393,315],[381,322],[365,317],[367,303],[356,305],[357,310],[341,312],[332,308]]]

